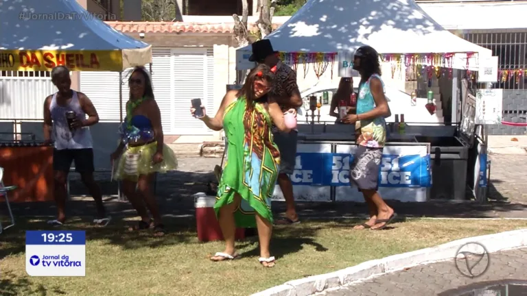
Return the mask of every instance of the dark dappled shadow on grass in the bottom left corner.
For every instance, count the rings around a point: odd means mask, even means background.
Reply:
[[[16,277],[12,272],[3,272],[0,279],[0,295],[2,296],[18,296],[18,295],[35,295],[45,296],[51,295],[66,295],[65,291],[54,288],[48,291],[42,284],[36,287],[27,277]]]

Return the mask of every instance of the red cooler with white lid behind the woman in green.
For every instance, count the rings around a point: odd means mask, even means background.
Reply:
[[[214,203],[216,197],[196,193],[194,195],[194,206],[196,207],[196,228],[198,230],[198,240],[208,242],[212,240],[223,240],[220,223],[216,219]],[[237,240],[245,238],[245,229],[236,228],[235,238]]]

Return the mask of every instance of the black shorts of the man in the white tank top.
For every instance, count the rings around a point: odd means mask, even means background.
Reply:
[[[75,162],[75,171],[78,171],[78,173],[93,173],[95,171],[93,149],[54,149],[54,171],[69,172],[72,162]]]

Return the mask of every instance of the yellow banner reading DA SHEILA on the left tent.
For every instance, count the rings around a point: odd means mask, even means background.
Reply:
[[[70,71],[122,71],[121,51],[2,50],[1,71],[51,71],[67,66]]]

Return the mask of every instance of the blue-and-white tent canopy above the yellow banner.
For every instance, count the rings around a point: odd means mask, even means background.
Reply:
[[[121,34],[75,0],[1,0],[0,50],[122,51],[124,69],[152,62],[150,45]]]

